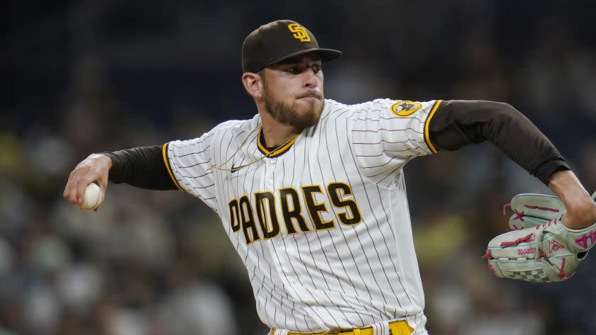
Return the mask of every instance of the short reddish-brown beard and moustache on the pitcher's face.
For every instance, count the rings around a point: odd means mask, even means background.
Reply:
[[[309,90],[305,93],[306,96],[314,96],[322,100],[321,93]],[[316,125],[321,118],[323,112],[323,103],[321,100],[307,101],[308,106],[302,113],[298,111],[298,108],[293,103],[288,103],[282,100],[278,100],[274,94],[269,91],[265,81],[263,81],[263,98],[265,101],[265,108],[269,111],[273,120],[276,120],[282,125],[291,125],[296,127],[297,130],[303,130],[304,128]],[[321,103],[319,103],[321,102]]]

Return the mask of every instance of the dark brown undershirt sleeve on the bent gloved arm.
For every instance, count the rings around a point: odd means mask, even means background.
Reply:
[[[507,103],[443,101],[429,121],[429,137],[438,151],[488,140],[547,186],[553,173],[570,170],[551,141]]]

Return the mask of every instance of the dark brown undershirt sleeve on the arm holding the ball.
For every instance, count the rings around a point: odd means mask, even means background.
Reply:
[[[111,159],[109,180],[151,190],[176,190],[162,156],[162,147],[137,147],[104,152]]]

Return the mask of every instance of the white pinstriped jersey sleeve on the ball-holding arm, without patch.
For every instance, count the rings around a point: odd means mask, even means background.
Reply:
[[[194,195],[217,212],[211,144],[215,129],[192,140],[164,144],[162,151],[172,180],[180,190]]]

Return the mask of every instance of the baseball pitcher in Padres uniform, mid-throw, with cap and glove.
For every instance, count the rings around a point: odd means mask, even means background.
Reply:
[[[559,201],[512,203],[514,223],[539,219],[492,241],[490,268],[524,280],[570,277],[595,243],[596,203],[524,115],[491,101],[326,99],[321,64],[340,55],[294,21],[262,25],[242,47],[253,118],[191,140],[92,154],[70,174],[65,198],[80,206],[89,183],[105,194],[108,181],[200,198],[246,266],[270,334],[424,335],[403,168],[487,140]],[[522,213],[524,205],[536,208]],[[554,242],[561,246],[549,251]]]

